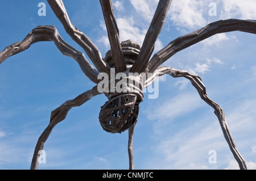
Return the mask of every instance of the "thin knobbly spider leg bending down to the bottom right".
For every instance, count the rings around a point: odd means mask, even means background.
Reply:
[[[164,74],[170,74],[174,78],[184,77],[191,81],[192,85],[196,88],[197,92],[199,92],[201,99],[203,99],[207,104],[209,104],[214,109],[214,113],[218,117],[222,132],[224,134],[226,142],[228,142],[229,148],[232,151],[234,158],[238,162],[240,169],[245,170],[245,161],[236,148],[232,134],[230,133],[228,124],[226,123],[225,113],[217,103],[213,102],[213,100],[211,100],[208,97],[206,88],[203,82],[201,81],[201,78],[198,75],[193,75],[185,70],[177,70],[174,68],[167,68],[167,66],[160,66],[158,69],[155,70],[154,75],[152,76],[151,80],[148,81],[146,86],[149,86],[152,83],[152,81],[154,81],[154,79],[158,77],[157,75],[162,76]]]

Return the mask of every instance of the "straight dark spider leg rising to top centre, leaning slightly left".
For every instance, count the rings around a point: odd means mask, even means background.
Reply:
[[[115,62],[115,71],[123,72],[126,70],[125,57],[123,56],[121,44],[119,41],[119,30],[115,22],[114,10],[111,0],[100,0],[106,28],[108,30],[109,43],[111,47],[111,56]]]

